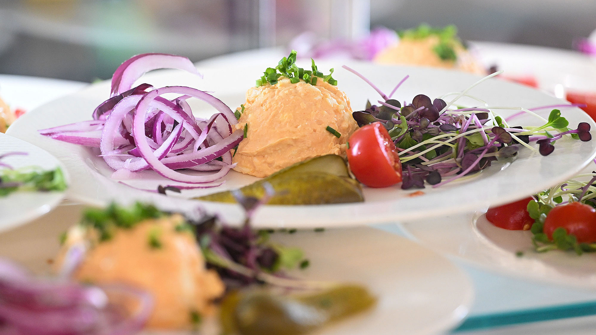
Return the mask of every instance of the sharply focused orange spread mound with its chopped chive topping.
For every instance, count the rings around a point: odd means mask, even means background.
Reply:
[[[257,177],[271,175],[306,159],[345,156],[347,138],[358,128],[350,101],[337,80],[318,70],[296,65],[296,51],[269,67],[246,92],[238,108],[245,136],[232,162],[234,170]]]

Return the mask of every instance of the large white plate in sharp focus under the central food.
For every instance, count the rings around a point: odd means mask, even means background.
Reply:
[[[254,85],[254,78],[259,77],[266,64],[260,64],[258,61],[251,64],[235,62],[226,67],[200,69],[205,75],[202,82],[181,72],[153,73],[142,81],[156,86],[192,85],[209,89],[215,91],[215,95],[226,104],[234,107],[244,102],[246,89]],[[350,97],[355,110],[364,108],[367,99],[378,100],[378,95],[372,88],[352,73],[339,69],[340,65],[321,62],[319,68],[338,68],[334,77],[339,80],[339,87]],[[479,79],[467,73],[417,67],[375,66],[364,63],[353,63],[352,67],[369,77],[385,91],[390,91],[403,76],[410,75],[410,79],[406,80],[395,95],[399,100],[406,101],[410,101],[417,94],[426,94],[434,98],[447,92],[461,91]],[[196,201],[185,201],[175,196],[160,196],[118,184],[110,178],[112,171],[100,157],[97,157],[97,150],[57,142],[38,134],[38,129],[90,119],[95,106],[108,97],[108,91],[107,82],[89,86],[77,94],[53,101],[24,115],[11,126],[9,132],[45,148],[64,163],[73,178],[69,197],[76,200],[103,206],[112,200],[129,202],[138,199],[154,201],[164,209],[178,210],[189,210],[196,206]],[[504,80],[488,80],[473,88],[470,94],[482,97],[491,106],[532,108],[563,103],[542,92]],[[470,101],[461,101],[461,104],[470,103]],[[204,106],[197,106],[197,108],[201,107]],[[576,126],[579,122],[589,122],[592,129],[596,129],[594,122],[579,108],[565,109],[564,116],[572,126]],[[519,123],[538,125],[535,119],[528,116],[520,117]],[[585,166],[595,154],[596,141],[580,142],[561,139],[557,141],[557,149],[550,156],[543,157],[535,151],[522,150],[519,159],[511,165],[495,163],[479,178],[452,183],[437,189],[427,187],[423,196],[409,197],[413,191],[402,191],[399,186],[383,189],[366,188],[364,203],[264,206],[256,213],[254,225],[256,227],[344,226],[396,219],[410,220],[474,210],[480,206],[501,204],[521,198],[527,193],[542,190],[548,185],[566,179]],[[253,181],[254,178],[231,172],[225,180],[226,184],[221,188],[239,187]],[[141,179],[127,182],[135,187],[153,190],[158,184],[165,183],[154,172],[144,172]],[[213,191],[218,189],[202,190],[203,194]],[[200,192],[183,192],[182,196],[189,197]],[[228,222],[241,222],[243,217],[239,206],[206,202],[202,204],[210,211],[219,212]]]

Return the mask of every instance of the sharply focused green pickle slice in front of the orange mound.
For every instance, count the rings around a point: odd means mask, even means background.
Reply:
[[[240,188],[247,197],[265,196],[263,184],[275,190],[268,204],[330,204],[364,201],[362,187],[353,179],[346,161],[337,155],[315,157],[275,172],[267,178]],[[205,201],[235,203],[230,191],[196,198]]]

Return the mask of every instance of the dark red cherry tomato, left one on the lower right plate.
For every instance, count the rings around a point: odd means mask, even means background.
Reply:
[[[527,204],[532,200],[532,197],[527,197],[513,203],[491,207],[485,214],[486,219],[499,228],[523,230],[526,227],[529,229],[534,219],[530,218],[527,212]]]

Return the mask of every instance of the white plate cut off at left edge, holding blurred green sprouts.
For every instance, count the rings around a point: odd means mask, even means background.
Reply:
[[[60,165],[60,162],[47,151],[36,147],[22,139],[14,138],[0,133],[0,155],[12,151],[28,153],[25,155],[8,156],[2,159],[2,163],[12,166],[14,169],[24,166],[39,166],[44,170],[53,170]],[[4,169],[0,167],[0,169]],[[67,172],[62,167],[65,178]],[[64,192],[13,192],[6,197],[0,197],[0,231],[5,231],[27,221],[44,215],[54,208]]]

